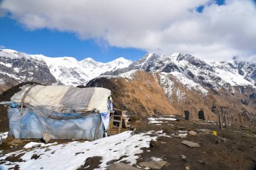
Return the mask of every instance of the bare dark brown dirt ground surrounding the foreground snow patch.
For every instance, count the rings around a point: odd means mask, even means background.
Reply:
[[[218,124],[195,124],[197,121],[185,121],[181,116],[177,116],[177,121],[164,121],[161,126],[149,124],[148,118],[133,117],[131,122],[133,130],[138,134],[150,130],[163,130],[166,135],[171,136],[178,130],[194,130],[199,132],[200,129],[214,130],[217,136],[210,134],[197,134],[187,138],[170,138],[160,136],[157,141],[152,141],[150,148],[142,148],[143,153],[138,155],[137,163],[150,161],[152,157],[161,158],[170,163],[162,169],[256,169],[256,130],[250,128],[228,127],[221,130]],[[127,129],[123,129],[127,130]],[[182,144],[182,140],[197,142],[199,148],[190,148]],[[19,151],[28,142],[41,142],[40,140],[13,140],[8,137],[0,145],[0,156],[13,151]],[[51,140],[58,143],[66,143],[71,140]],[[84,140],[81,140],[84,141]],[[183,155],[183,156],[182,156]],[[7,157],[4,161],[21,161],[19,157]],[[100,164],[101,157],[91,157],[86,160],[85,165],[79,169],[94,169]],[[119,159],[120,160],[120,159]],[[110,164],[119,160],[110,161]],[[16,167],[18,169],[18,167]]]

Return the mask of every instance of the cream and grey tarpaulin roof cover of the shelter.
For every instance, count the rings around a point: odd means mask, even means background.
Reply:
[[[13,103],[21,103],[30,87],[11,97]],[[99,113],[108,112],[108,97],[111,91],[101,87],[78,88],[61,85],[35,85],[24,97],[24,105],[36,114],[48,118],[52,112],[77,113],[96,109]]]

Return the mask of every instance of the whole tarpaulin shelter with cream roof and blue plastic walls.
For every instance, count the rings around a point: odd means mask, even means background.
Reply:
[[[101,87],[32,85],[11,97],[9,132],[15,138],[102,138],[108,130],[111,91]]]

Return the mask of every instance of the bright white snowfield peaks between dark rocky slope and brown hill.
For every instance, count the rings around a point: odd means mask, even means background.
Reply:
[[[103,63],[97,62],[92,58],[86,58],[78,61],[73,57],[56,57],[51,58],[43,55],[31,55],[32,58],[44,60],[48,65],[51,73],[64,85],[86,85],[88,81],[98,77],[100,74],[106,71],[115,71],[116,69],[122,69],[128,67],[131,64],[131,60],[125,58],[117,58],[111,62]]]

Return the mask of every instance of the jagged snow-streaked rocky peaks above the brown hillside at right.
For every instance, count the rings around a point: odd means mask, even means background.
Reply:
[[[205,62],[190,54],[146,54],[125,69],[107,72],[104,75],[119,75],[135,69],[147,72],[167,73],[181,83],[191,81],[218,91],[225,88],[234,91],[238,86],[256,86],[256,65],[238,61]],[[191,84],[187,83],[187,84]]]

